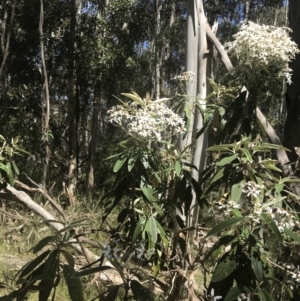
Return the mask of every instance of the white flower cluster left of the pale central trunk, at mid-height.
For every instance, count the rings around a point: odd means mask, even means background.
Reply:
[[[160,141],[162,132],[169,127],[174,128],[176,134],[186,131],[184,120],[161,102],[149,102],[144,106],[131,102],[128,106],[114,106],[107,113],[109,122],[142,140]]]

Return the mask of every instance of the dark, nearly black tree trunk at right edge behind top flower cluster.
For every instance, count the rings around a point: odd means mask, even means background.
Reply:
[[[300,1],[289,1],[289,21],[293,32],[292,40],[300,45]],[[283,145],[291,150],[288,153],[291,162],[297,160],[295,147],[300,146],[300,54],[290,64],[293,70],[292,84],[287,87],[287,119],[284,128]]]

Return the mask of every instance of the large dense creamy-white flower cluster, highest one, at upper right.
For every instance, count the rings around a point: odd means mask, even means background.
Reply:
[[[225,47],[238,60],[254,72],[268,71],[275,77],[285,77],[291,83],[289,61],[299,52],[297,44],[290,37],[291,29],[259,25],[253,22],[243,23],[235,40]],[[274,74],[276,72],[277,74]]]

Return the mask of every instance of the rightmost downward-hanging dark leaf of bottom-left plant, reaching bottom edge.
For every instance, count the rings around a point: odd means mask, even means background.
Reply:
[[[80,278],[74,276],[74,269],[69,265],[63,266],[63,274],[68,286],[69,295],[72,301],[83,301],[82,284]]]

